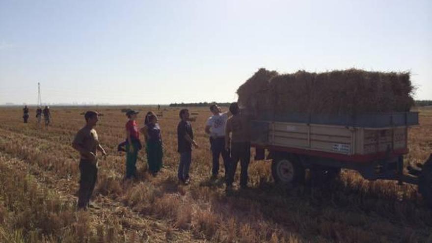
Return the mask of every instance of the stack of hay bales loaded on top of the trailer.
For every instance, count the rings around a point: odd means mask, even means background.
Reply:
[[[358,69],[279,75],[262,68],[237,93],[240,105],[253,113],[355,115],[409,111],[414,105],[409,73]]]

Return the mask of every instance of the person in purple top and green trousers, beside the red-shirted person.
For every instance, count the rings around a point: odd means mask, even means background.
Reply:
[[[158,117],[153,112],[147,113],[145,120],[147,122],[139,132],[144,135],[149,172],[156,176],[162,168],[161,128],[158,124]]]

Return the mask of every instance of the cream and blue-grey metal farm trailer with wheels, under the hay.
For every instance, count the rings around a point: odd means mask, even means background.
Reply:
[[[257,159],[270,153],[277,183],[300,182],[308,168],[312,176],[331,179],[341,168],[358,171],[368,180],[397,180],[419,185],[432,206],[432,156],[420,168],[409,167],[408,128],[419,124],[418,112],[388,112],[358,116],[262,112],[252,120],[251,144]],[[423,170],[420,170],[423,167]]]

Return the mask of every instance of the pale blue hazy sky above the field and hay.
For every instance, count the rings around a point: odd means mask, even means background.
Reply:
[[[0,104],[232,102],[260,67],[410,71],[431,0],[0,0]]]

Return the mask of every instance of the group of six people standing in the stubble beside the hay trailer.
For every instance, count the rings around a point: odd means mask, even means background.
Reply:
[[[225,168],[226,190],[232,189],[237,164],[241,161],[242,189],[247,188],[247,168],[250,160],[250,125],[249,119],[240,112],[237,103],[232,103],[229,111],[222,112],[216,104],[210,107],[213,115],[206,123],[205,132],[210,135],[210,147],[212,151],[212,175],[216,179],[219,172],[219,157],[222,156]],[[149,111],[144,120],[144,126],[138,128],[136,122],[138,111],[129,110],[126,115],[128,121],[125,125],[126,141],[118,145],[119,151],[126,152],[126,179],[136,176],[136,161],[138,151],[142,149],[140,134],[144,136],[145,150],[147,154],[148,170],[156,176],[162,169],[163,149],[161,128],[157,115]],[[81,128],[72,143],[74,149],[80,152],[80,189],[78,208],[92,207],[90,197],[97,178],[97,151],[107,155],[99,144],[98,135],[94,129],[98,122],[96,111],[87,111],[84,114],[86,125]],[[177,125],[177,152],[180,154],[177,176],[179,182],[185,185],[190,183],[189,168],[192,161],[192,147],[199,148],[194,140],[192,125],[189,122],[189,110],[181,109],[180,121]]]

